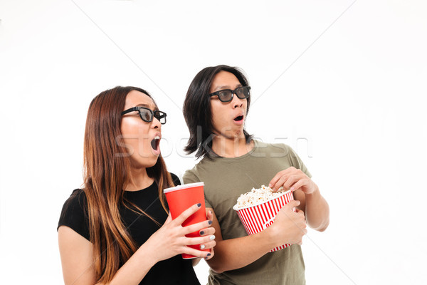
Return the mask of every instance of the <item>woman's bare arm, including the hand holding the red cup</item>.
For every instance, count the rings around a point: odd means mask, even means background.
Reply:
[[[188,227],[181,226],[182,222],[198,209],[199,207],[194,205],[174,220],[169,214],[164,225],[125,262],[110,284],[139,284],[154,264],[176,254],[186,253],[206,257],[208,252],[201,252],[186,245],[206,244],[206,248],[214,247],[215,242],[211,241],[212,234],[194,238],[185,237],[185,234],[209,227],[209,221]],[[95,284],[93,244],[65,226],[58,229],[58,242],[65,284]]]

